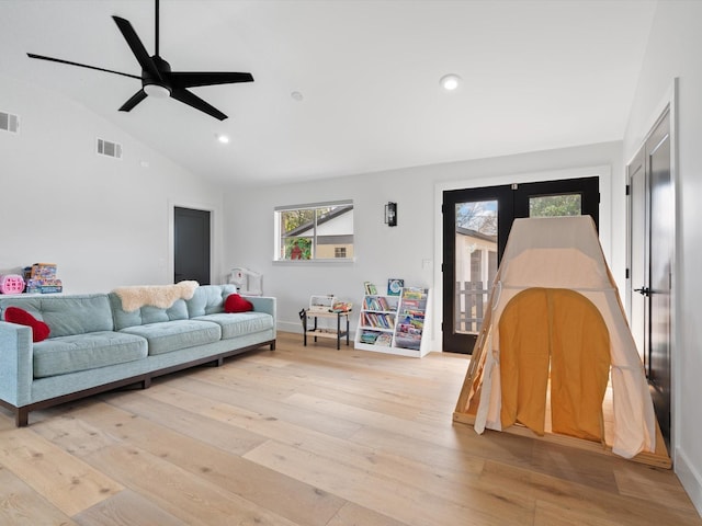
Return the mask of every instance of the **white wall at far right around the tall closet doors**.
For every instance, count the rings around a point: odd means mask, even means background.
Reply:
[[[672,447],[675,469],[702,513],[702,3],[659,2],[624,137],[624,159],[634,156],[645,134],[670,100],[673,79],[678,146],[675,318],[672,347]]]

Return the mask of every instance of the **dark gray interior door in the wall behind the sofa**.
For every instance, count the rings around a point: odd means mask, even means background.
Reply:
[[[176,207],[173,242],[173,283],[210,285],[210,211]]]

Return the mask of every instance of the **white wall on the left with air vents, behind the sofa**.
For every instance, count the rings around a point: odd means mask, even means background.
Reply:
[[[67,293],[172,283],[171,210],[190,205],[213,210],[220,279],[217,188],[55,93],[0,78],[0,104],[21,118],[0,132],[0,274],[56,263]],[[97,137],[123,160],[95,155]]]

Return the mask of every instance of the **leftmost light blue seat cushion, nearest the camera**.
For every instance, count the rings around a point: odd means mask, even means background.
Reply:
[[[34,378],[124,364],[147,356],[146,340],[112,331],[50,338],[34,344]]]

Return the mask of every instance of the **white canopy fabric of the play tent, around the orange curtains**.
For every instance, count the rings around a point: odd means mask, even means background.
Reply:
[[[484,363],[475,431],[501,431],[498,322],[509,300],[531,287],[571,289],[600,310],[611,343],[612,451],[625,458],[653,453],[656,420],[644,367],[589,216],[517,219],[512,225],[492,286],[490,327],[478,342],[484,348],[477,356]]]

